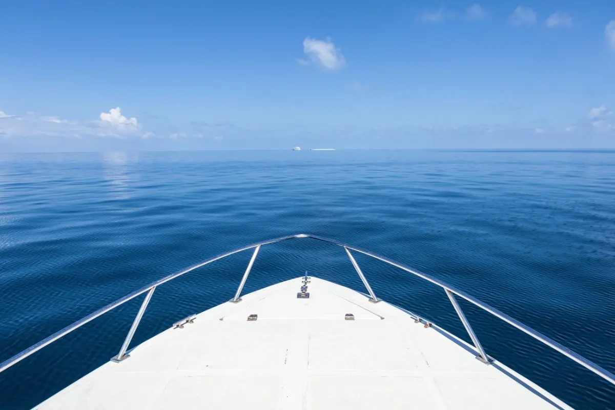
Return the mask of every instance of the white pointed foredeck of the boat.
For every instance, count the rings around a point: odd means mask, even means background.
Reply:
[[[297,299],[301,280],[206,310],[37,408],[569,409],[386,302],[314,277]]]

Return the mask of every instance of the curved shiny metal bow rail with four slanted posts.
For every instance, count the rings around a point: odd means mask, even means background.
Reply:
[[[143,313],[145,313],[145,309],[147,308],[149,300],[151,299],[151,296],[154,293],[154,290],[156,290],[157,286],[162,285],[165,282],[169,282],[170,280],[177,278],[178,276],[187,274],[188,272],[191,272],[191,270],[197,269],[199,267],[210,264],[211,262],[217,261],[218,259],[226,258],[226,256],[239,253],[239,252],[242,252],[248,249],[254,249],[252,258],[250,258],[250,262],[248,263],[244,276],[242,277],[241,282],[239,283],[239,288],[237,288],[237,292],[235,293],[234,298],[231,299],[231,302],[234,302],[234,303],[240,302],[241,299],[239,298],[239,296],[241,294],[242,289],[244,288],[245,281],[247,280],[248,275],[250,274],[250,270],[252,269],[252,265],[254,264],[254,261],[256,259],[256,256],[258,255],[258,251],[260,250],[261,246],[269,245],[270,243],[282,242],[284,240],[297,239],[297,238],[315,239],[315,240],[319,240],[322,242],[333,243],[334,245],[343,247],[344,250],[346,251],[346,254],[348,255],[348,258],[350,259],[352,263],[352,266],[354,266],[355,270],[357,271],[357,274],[359,274],[359,277],[361,278],[363,282],[363,285],[365,285],[365,288],[370,294],[371,302],[379,302],[381,299],[378,299],[376,297],[374,291],[371,289],[370,284],[367,282],[365,275],[363,275],[362,270],[360,269],[359,265],[357,264],[354,257],[352,256],[351,251],[355,251],[358,253],[365,254],[367,256],[371,256],[371,258],[375,258],[375,259],[378,259],[379,261],[383,261],[389,265],[405,270],[406,272],[410,274],[416,275],[419,278],[423,278],[424,280],[427,280],[427,282],[431,282],[437,286],[440,286],[440,288],[442,288],[446,292],[446,295],[450,299],[451,304],[453,304],[453,307],[457,315],[459,316],[459,319],[462,321],[464,327],[466,328],[466,331],[469,334],[470,339],[472,339],[472,342],[474,343],[474,347],[476,348],[479,354],[477,358],[483,361],[484,363],[487,363],[487,364],[490,363],[488,356],[486,355],[485,350],[483,349],[482,345],[478,341],[478,337],[474,333],[474,330],[472,330],[472,326],[470,326],[470,323],[467,320],[466,315],[464,315],[463,311],[461,310],[461,307],[459,306],[456,300],[456,296],[462,299],[466,299],[466,301],[474,304],[475,306],[480,307],[480,309],[486,310],[486,312],[489,312],[491,313],[491,315],[494,315],[495,317],[505,321],[506,323],[509,323],[509,325],[514,326],[515,328],[519,329],[523,333],[529,334],[534,339],[541,341],[542,343],[546,344],[547,346],[551,347],[554,350],[557,350],[557,352],[560,352],[566,357],[571,358],[572,360],[579,363],[579,365],[584,366],[585,368],[593,371],[593,373],[598,374],[598,376],[602,377],[605,380],[608,380],[608,382],[615,385],[615,375],[613,373],[609,372],[606,369],[601,368],[600,366],[596,365],[592,361],[587,360],[586,358],[582,357],[576,352],[573,352],[573,350],[570,350],[567,347],[559,344],[558,342],[555,342],[552,339],[549,339],[549,337],[545,336],[544,334],[539,333],[538,331],[535,331],[534,329],[531,329],[526,325],[523,325],[523,323],[521,323],[520,321],[515,320],[514,318],[506,315],[505,313],[500,312],[498,309],[495,309],[494,307],[491,307],[488,304],[479,301],[478,299],[474,298],[473,296],[470,296],[464,291],[461,291],[455,288],[454,286],[448,285],[447,283],[444,283],[436,278],[432,278],[431,276],[426,275],[423,272],[419,272],[418,270],[411,269],[410,267],[404,266],[403,264],[400,264],[399,262],[395,262],[395,261],[392,261],[391,259],[384,258],[384,256],[379,256],[378,254],[371,253],[371,252],[368,252],[368,251],[365,251],[359,248],[355,248],[354,246],[347,245],[346,243],[337,242],[332,239],[327,239],[327,238],[323,238],[323,237],[319,237],[315,235],[307,235],[307,234],[290,235],[290,236],[280,237],[276,239],[266,240],[266,241],[259,242],[259,243],[253,243],[252,245],[244,246],[243,248],[238,248],[236,250],[232,250],[227,253],[219,254],[218,256],[214,256],[213,258],[207,259],[206,261],[199,262],[186,269],[180,270],[179,272],[175,272],[174,274],[161,278],[157,280],[156,282],[150,283],[147,286],[143,286],[143,288],[136,290],[133,293],[127,294],[126,296],[124,296],[124,298],[117,299],[117,301],[111,304],[108,304],[107,306],[102,307],[101,309],[98,309],[96,312],[93,312],[90,315],[87,315],[81,320],[77,320],[72,325],[66,326],[62,330],[57,331],[56,333],[52,334],[46,339],[38,342],[37,344],[31,347],[28,347],[28,349],[26,350],[23,350],[23,352],[17,353],[17,355],[15,355],[14,357],[11,357],[8,360],[0,363],[0,373],[10,368],[10,366],[15,365],[15,363],[22,361],[23,359],[30,356],[31,354],[38,352],[38,350],[41,350],[46,345],[54,341],[57,341],[58,339],[60,339],[60,337],[65,336],[68,333],[71,333],[77,328],[80,328],[81,326],[85,325],[85,323],[88,323],[89,321],[94,320],[95,318],[105,314],[106,312],[109,312],[109,310],[115,309],[116,307],[124,304],[125,302],[128,302],[134,298],[137,298],[137,296],[139,296],[140,294],[147,293],[137,313],[137,316],[135,317],[135,320],[133,321],[132,326],[130,327],[129,333],[127,334],[126,339],[124,340],[124,344],[122,344],[122,347],[119,353],[117,354],[117,356],[111,359],[113,361],[120,362],[124,360],[125,358],[129,357],[129,355],[127,355],[126,352],[129,347],[130,341],[132,340],[132,337],[135,334],[135,331],[137,330],[137,327],[141,321],[141,318],[143,317]]]

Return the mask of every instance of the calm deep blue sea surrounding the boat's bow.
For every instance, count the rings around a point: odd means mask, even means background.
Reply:
[[[0,361],[194,262],[298,233],[422,270],[615,372],[615,151],[2,154]],[[133,345],[231,298],[250,256],[160,286]],[[356,258],[380,298],[469,341],[440,288]],[[265,246],[244,291],[305,270],[362,290],[341,248],[302,239]],[[0,373],[0,408],[116,355],[140,302]],[[576,408],[615,408],[615,387],[460,304],[488,354]]]

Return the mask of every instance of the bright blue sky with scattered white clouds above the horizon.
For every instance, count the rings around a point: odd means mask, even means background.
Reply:
[[[615,1],[0,0],[0,152],[615,148]]]

